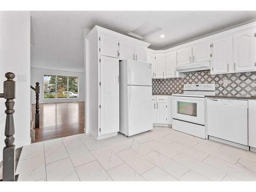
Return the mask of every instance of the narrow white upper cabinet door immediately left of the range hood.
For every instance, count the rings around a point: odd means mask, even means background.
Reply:
[[[168,77],[175,77],[176,71],[175,67],[177,65],[177,57],[176,57],[176,51],[170,52],[165,55],[165,69],[166,74],[165,76]]]

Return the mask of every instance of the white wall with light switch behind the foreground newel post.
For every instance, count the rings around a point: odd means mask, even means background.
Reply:
[[[30,12],[0,11],[0,92],[3,93],[5,73],[16,77],[14,126],[16,147],[30,144]],[[25,75],[25,82],[18,81]],[[0,98],[0,160],[3,157],[5,130],[5,99]]]

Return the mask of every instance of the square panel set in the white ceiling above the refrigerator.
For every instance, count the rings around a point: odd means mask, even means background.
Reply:
[[[139,39],[143,39],[144,37],[152,35],[153,33],[156,33],[160,30],[160,27],[146,21],[142,25],[140,25],[139,27],[137,27],[136,29],[132,30],[127,34]]]

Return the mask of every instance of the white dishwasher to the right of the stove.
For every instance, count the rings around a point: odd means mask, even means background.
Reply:
[[[207,135],[248,145],[248,101],[207,98]]]

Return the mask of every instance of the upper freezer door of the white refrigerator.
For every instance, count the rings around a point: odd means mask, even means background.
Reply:
[[[151,68],[150,63],[127,60],[127,84],[152,86]]]

